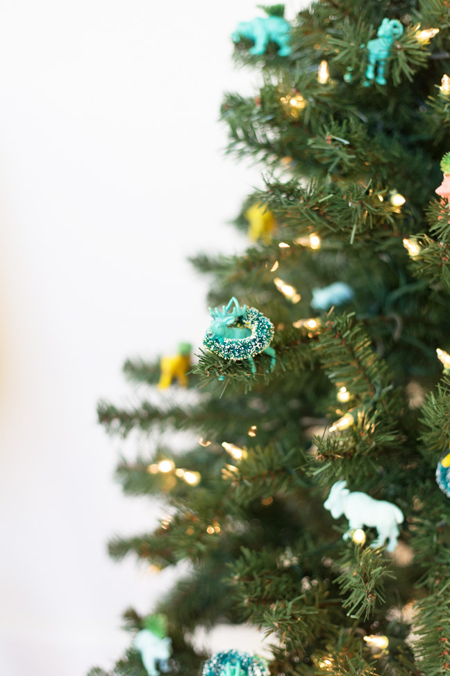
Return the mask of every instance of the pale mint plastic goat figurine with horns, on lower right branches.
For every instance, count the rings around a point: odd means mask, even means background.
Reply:
[[[388,540],[386,552],[393,552],[399,536],[398,524],[405,520],[401,509],[392,502],[376,500],[366,493],[351,493],[346,486],[345,481],[333,483],[324,503],[324,508],[331,512],[333,519],[343,514],[349,520],[349,530],[342,539],[348,540],[353,531],[363,526],[375,526],[378,538],[371,547],[383,547],[385,540]]]

